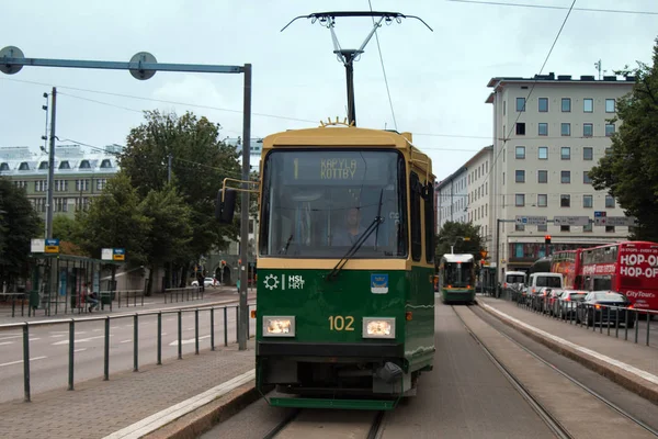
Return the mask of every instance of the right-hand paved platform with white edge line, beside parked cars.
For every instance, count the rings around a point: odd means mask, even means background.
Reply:
[[[526,336],[658,404],[658,350],[547,318],[514,302],[478,295],[478,305]],[[621,328],[623,329],[623,328]],[[620,330],[620,335],[622,331]]]

